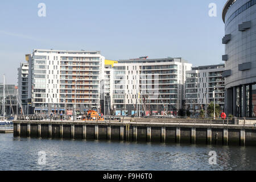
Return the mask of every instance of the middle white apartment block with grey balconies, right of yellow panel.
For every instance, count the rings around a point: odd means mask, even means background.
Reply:
[[[179,57],[119,60],[114,64],[115,115],[176,114],[185,100],[185,71],[191,67]]]

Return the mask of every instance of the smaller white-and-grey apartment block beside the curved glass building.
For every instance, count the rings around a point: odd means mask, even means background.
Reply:
[[[224,109],[225,80],[222,72],[224,64],[194,67],[186,72],[186,108],[192,115],[198,114],[201,109],[207,110],[208,104],[214,101]]]

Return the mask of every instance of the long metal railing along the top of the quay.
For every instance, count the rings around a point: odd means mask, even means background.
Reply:
[[[174,117],[172,115],[151,115],[145,117],[137,117],[137,116],[120,116],[120,115],[103,115],[104,121],[95,117],[94,119],[86,119],[86,115],[82,115],[85,119],[77,119],[76,122],[135,122],[135,123],[179,123],[179,125],[183,123],[191,123],[191,124],[209,124],[211,125],[243,125],[243,126],[256,126],[256,118],[190,118],[190,117]],[[16,115],[15,121],[51,121],[51,122],[73,122],[73,119],[70,116],[63,115]]]

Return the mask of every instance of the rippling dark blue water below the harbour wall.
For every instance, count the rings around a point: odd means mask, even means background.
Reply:
[[[38,164],[38,152],[46,164]],[[209,164],[216,151],[217,164]],[[37,139],[0,134],[0,170],[255,170],[256,147]]]

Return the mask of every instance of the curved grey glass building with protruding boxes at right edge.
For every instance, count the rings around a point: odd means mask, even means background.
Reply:
[[[229,0],[225,23],[225,111],[236,117],[256,115],[256,0]]]

